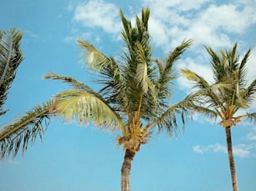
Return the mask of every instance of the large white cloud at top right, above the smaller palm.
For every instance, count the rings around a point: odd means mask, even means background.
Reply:
[[[152,37],[156,46],[163,49],[170,48],[170,44],[173,48],[177,45],[175,41],[181,43],[184,38],[192,38],[200,48],[202,44],[212,48],[230,47],[233,42],[230,33],[244,33],[256,23],[253,1],[220,5],[208,0],[144,0],[142,3],[151,8]]]

